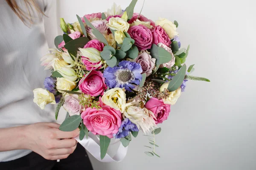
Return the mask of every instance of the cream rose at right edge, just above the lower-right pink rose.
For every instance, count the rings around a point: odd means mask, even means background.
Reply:
[[[167,89],[168,85],[169,85],[169,82],[163,83],[163,85],[160,87],[160,91],[164,91],[165,88]],[[175,105],[175,103],[177,102],[177,99],[181,95],[181,88],[179,87],[177,90],[168,92],[168,93],[169,93],[169,96],[166,99],[163,99],[163,102],[165,104]]]

